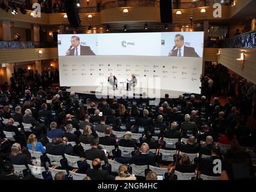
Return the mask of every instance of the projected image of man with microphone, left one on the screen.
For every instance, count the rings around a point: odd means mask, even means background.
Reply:
[[[95,55],[89,46],[81,46],[78,36],[71,37],[71,46],[66,51],[66,56]]]

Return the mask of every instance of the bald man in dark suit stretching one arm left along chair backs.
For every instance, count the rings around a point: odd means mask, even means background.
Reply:
[[[149,152],[149,146],[147,143],[143,143],[141,146],[141,151],[139,154],[134,155],[131,158],[116,158],[115,160],[119,163],[126,164],[136,164],[138,166],[151,165],[155,166],[155,155]]]

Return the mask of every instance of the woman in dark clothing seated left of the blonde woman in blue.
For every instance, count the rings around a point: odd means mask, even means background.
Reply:
[[[19,143],[14,143],[11,146],[10,160],[12,164],[31,164],[31,156],[29,154],[22,153]]]

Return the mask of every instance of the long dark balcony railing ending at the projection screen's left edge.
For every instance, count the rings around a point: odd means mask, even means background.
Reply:
[[[38,41],[0,41],[0,49],[31,49],[57,47],[57,42]]]

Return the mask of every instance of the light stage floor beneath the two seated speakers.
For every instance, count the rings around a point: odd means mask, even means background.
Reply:
[[[97,87],[97,86],[72,86],[70,89],[67,89],[67,92],[75,91],[76,94],[89,94],[95,95],[96,98],[107,98],[116,97],[120,98],[125,95],[128,98],[139,98],[139,97],[148,97],[148,98],[164,98],[165,94],[169,94],[170,98],[178,98],[180,94],[184,94],[185,92],[180,91],[170,91],[170,90],[163,90],[163,89],[146,89],[146,88],[131,88],[131,91],[126,91],[125,88],[120,86],[115,91],[113,88],[108,87]],[[143,94],[144,93],[144,94]],[[146,94],[145,94],[146,93]],[[186,92],[186,94],[189,94]]]

